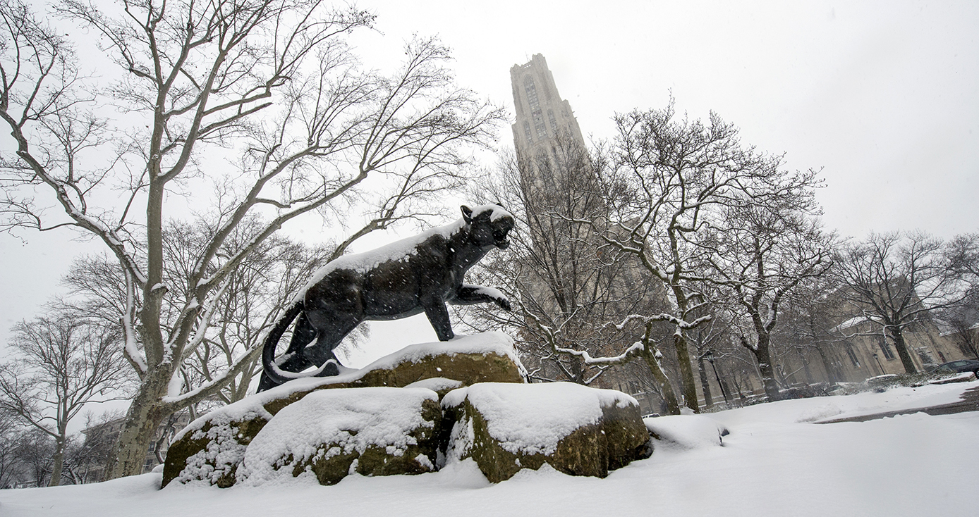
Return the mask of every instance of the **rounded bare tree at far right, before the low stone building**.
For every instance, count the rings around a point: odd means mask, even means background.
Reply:
[[[905,371],[914,373],[905,331],[967,296],[960,276],[942,253],[943,243],[923,232],[870,234],[836,253],[851,315],[880,325],[894,343]]]

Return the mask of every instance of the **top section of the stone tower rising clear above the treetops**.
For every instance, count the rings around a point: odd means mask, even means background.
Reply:
[[[568,101],[561,99],[547,61],[535,54],[526,65],[510,68],[513,105],[517,123],[513,124],[513,144],[517,152],[534,156],[538,151],[551,154],[556,139],[570,138],[584,147],[582,130]]]

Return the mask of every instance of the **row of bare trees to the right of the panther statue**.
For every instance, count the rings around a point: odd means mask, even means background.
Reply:
[[[904,336],[923,324],[956,329],[962,355],[979,359],[979,234],[844,239],[820,220],[817,171],[786,171],[716,113],[690,120],[671,101],[615,122],[616,136],[591,149],[556,135],[551,149],[518,150],[490,183],[487,198],[519,223],[509,256],[480,274],[516,279],[517,309],[463,319],[517,329],[532,376],[602,385],[615,366],[606,385],[628,379],[676,414],[701,409],[698,384],[713,405],[708,376],[727,401],[728,384],[743,394],[753,376],[779,400],[789,355],[812,379],[815,351],[844,380],[831,349],[867,333],[885,335],[908,373],[918,366]]]

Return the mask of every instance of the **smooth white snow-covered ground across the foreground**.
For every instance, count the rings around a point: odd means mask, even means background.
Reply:
[[[711,440],[657,444],[652,457],[606,479],[566,476],[545,465],[490,485],[471,460],[419,476],[352,475],[332,487],[172,485],[161,491],[161,475],[146,474],[0,491],[0,515],[976,515],[979,411],[813,423],[952,403],[976,386],[979,381],[898,388],[712,413],[707,416],[730,431],[723,447]]]

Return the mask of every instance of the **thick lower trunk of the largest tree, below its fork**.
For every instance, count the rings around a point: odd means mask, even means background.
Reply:
[[[146,452],[153,441],[153,434],[163,418],[172,412],[161,400],[166,395],[169,375],[158,366],[143,378],[143,382],[129,406],[125,422],[104,474],[104,481],[122,476],[143,473]]]

